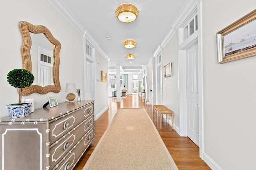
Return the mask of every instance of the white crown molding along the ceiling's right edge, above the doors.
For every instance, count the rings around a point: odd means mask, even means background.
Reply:
[[[168,43],[172,35],[176,32],[176,30],[184,25],[184,22],[188,20],[189,16],[196,13],[196,7],[198,3],[202,0],[188,0],[180,13],[178,14],[178,17],[174,20],[172,26],[170,27],[168,33],[166,34],[164,40],[161,43],[161,47],[164,48],[164,46]],[[155,55],[155,54],[154,54]]]

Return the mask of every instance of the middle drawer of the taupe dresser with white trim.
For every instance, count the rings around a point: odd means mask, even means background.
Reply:
[[[50,167],[54,167],[94,125],[94,115],[85,119],[50,146]]]

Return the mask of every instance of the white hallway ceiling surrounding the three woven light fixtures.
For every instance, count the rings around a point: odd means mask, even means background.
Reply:
[[[124,73],[139,73],[153,56],[154,51],[166,37],[173,22],[187,0],[60,0],[74,18],[98,43],[110,58],[109,73],[114,73],[120,64]],[[123,23],[115,16],[122,3],[132,3],[139,10],[138,18]],[[112,39],[106,39],[110,35]],[[134,39],[136,47],[126,49],[122,43]],[[135,59],[126,59],[134,53]],[[129,63],[132,61],[132,63]]]

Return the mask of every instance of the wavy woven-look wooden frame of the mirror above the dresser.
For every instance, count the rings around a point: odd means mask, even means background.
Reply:
[[[48,92],[58,93],[60,92],[60,80],[59,80],[59,66],[60,66],[60,42],[52,36],[52,33],[43,25],[32,25],[26,21],[20,21],[19,23],[20,32],[22,35],[22,67],[26,70],[32,71],[32,62],[30,56],[30,49],[32,45],[30,32],[31,33],[43,33],[46,38],[55,45],[53,51],[54,63],[52,67],[52,78],[54,85],[48,85],[45,87],[38,85],[31,85],[27,88],[22,89],[22,96],[28,96],[32,93],[46,94]]]

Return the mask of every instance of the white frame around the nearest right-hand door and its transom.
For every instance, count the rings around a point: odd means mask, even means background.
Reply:
[[[183,28],[178,29],[178,84],[180,113],[180,136],[187,135],[187,97],[186,97],[186,49],[198,45],[198,98],[199,98],[199,156],[203,159],[204,153],[204,123],[203,123],[203,60],[202,60],[202,12],[201,2],[196,6],[198,16],[198,30],[184,41]],[[189,17],[193,17],[192,14]],[[189,19],[189,17],[187,19]],[[186,20],[187,21],[187,20]],[[186,24],[186,23],[185,23]]]

